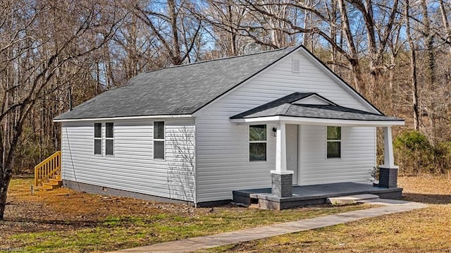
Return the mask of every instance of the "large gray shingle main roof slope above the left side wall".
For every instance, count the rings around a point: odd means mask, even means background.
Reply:
[[[141,73],[55,120],[191,114],[299,47]]]

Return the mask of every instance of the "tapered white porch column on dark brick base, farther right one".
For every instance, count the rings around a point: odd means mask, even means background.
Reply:
[[[393,159],[393,141],[391,126],[383,127],[383,158],[384,164],[379,166],[379,186],[386,188],[397,187],[397,170]]]

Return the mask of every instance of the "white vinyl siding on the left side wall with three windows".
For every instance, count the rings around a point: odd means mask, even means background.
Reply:
[[[153,125],[114,121],[114,156],[94,156],[94,122],[63,123],[63,179],[193,202],[194,120],[166,121],[166,161],[153,160]]]

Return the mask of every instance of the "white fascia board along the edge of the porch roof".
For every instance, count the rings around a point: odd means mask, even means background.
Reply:
[[[302,118],[288,116],[269,116],[261,118],[235,118],[232,123],[267,123],[282,121],[286,124],[295,125],[337,125],[337,126],[389,126],[404,125],[404,121],[357,121],[335,118]]]

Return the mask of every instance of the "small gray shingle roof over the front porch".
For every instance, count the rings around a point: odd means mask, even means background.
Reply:
[[[402,121],[400,118],[388,117],[383,114],[369,113],[335,104],[314,105],[314,104],[292,104],[299,99],[311,96],[314,93],[295,92],[288,96],[281,97],[268,102],[254,109],[239,113],[235,118],[258,118],[268,116],[291,116],[303,118],[330,118],[354,121]],[[316,96],[319,96],[316,94]]]

